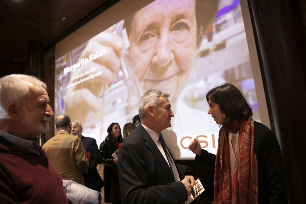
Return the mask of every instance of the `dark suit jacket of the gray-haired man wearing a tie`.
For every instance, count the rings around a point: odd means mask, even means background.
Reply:
[[[174,163],[181,180],[192,174],[187,166]],[[118,172],[123,204],[176,204],[188,199],[185,185],[174,181],[167,161],[141,124],[121,145]]]

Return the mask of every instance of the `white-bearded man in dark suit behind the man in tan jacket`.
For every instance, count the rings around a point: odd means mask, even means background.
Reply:
[[[82,124],[80,121],[72,120],[71,135],[79,136],[83,147],[86,152],[90,152],[89,155],[89,167],[88,174],[84,175],[85,186],[92,190],[101,192],[101,188],[104,186],[104,181],[101,179],[98,171],[97,164],[101,164],[103,161],[103,155],[98,149],[98,145],[95,139],[91,137],[84,137],[82,135]]]

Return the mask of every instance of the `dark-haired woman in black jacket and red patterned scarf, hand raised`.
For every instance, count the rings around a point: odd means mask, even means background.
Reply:
[[[230,83],[206,95],[208,114],[222,125],[217,155],[194,139],[195,161],[215,166],[214,201],[219,203],[288,203],[281,150],[273,132],[253,121],[244,95]]]

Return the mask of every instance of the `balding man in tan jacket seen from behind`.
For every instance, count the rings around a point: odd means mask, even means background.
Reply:
[[[72,125],[68,115],[58,116],[55,125],[58,133],[43,145],[43,150],[62,179],[85,185],[81,171],[88,169],[88,159],[81,139],[69,135]]]

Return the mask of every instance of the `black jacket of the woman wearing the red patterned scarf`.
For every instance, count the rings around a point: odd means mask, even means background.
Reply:
[[[220,132],[221,130],[219,136]],[[288,203],[285,172],[278,141],[269,128],[256,121],[254,121],[254,151],[258,165],[258,203]],[[201,155],[195,158],[195,161],[213,166],[215,160],[215,154],[203,149]]]

